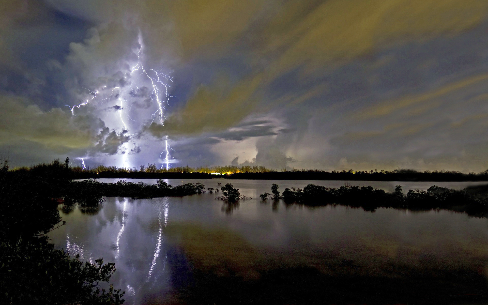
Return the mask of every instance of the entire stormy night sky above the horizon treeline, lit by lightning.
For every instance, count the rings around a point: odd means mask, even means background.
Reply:
[[[14,166],[488,168],[486,0],[0,5]]]

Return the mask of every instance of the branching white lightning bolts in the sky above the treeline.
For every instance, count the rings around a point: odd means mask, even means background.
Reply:
[[[159,118],[159,121],[161,122],[161,124],[163,124],[164,120],[166,119],[166,117],[164,116],[164,111],[167,111],[167,109],[164,107],[164,103],[167,104],[167,105],[169,105],[169,98],[170,97],[173,97],[168,92],[168,88],[170,87],[170,85],[167,84],[165,81],[173,81],[173,80],[172,80],[172,78],[169,75],[164,74],[161,71],[157,71],[155,69],[151,69],[151,68],[144,67],[144,65],[141,62],[142,48],[143,48],[142,35],[141,35],[141,33],[139,34],[138,42],[139,42],[139,45],[140,45],[140,48],[139,48],[138,52],[136,53],[137,54],[137,58],[138,58],[138,62],[131,68],[130,74],[132,75],[136,71],[139,71],[139,72],[141,72],[141,73],[139,73],[139,78],[140,77],[144,77],[145,79],[147,79],[148,81],[150,81],[150,83],[151,83],[150,87],[152,88],[152,91],[151,91],[149,97],[151,98],[151,100],[156,101],[156,103],[157,103],[157,110],[154,112],[154,114],[151,115],[151,118],[152,118],[152,121],[153,122],[154,122],[154,120],[156,118]],[[132,85],[135,86],[135,88],[136,88],[135,90],[132,87]],[[135,92],[139,91],[140,90],[140,87],[134,81],[132,81],[132,83],[129,86],[131,88],[131,94],[132,94],[132,98],[134,100],[135,99],[134,98],[134,91]],[[102,87],[102,89],[105,89],[106,87],[107,86],[104,85]],[[86,89],[86,88],[84,88],[84,89]],[[111,92],[110,96],[109,97],[106,97],[106,98],[104,98],[102,100],[100,100],[101,104],[104,101],[110,99],[113,96],[115,89],[119,89],[119,91],[121,90],[120,87],[114,87],[114,88],[112,88],[112,92]],[[92,97],[90,99],[86,99],[85,102],[81,102],[78,105],[74,105],[74,106],[66,105],[66,106],[69,107],[72,115],[76,115],[75,114],[75,108],[81,108],[81,106],[84,106],[84,105],[88,104],[90,101],[95,100],[95,98],[99,94],[99,91],[98,90],[95,90],[95,91],[90,90],[90,89],[86,89],[86,90],[89,91],[89,95],[92,95]],[[122,98],[122,95],[121,94],[118,95],[117,99],[120,102],[120,108],[118,109],[118,111],[120,111],[120,121],[121,121],[121,123],[123,125],[122,134],[127,133],[129,135],[129,137],[130,137],[131,142],[135,146],[137,146],[137,147],[140,148],[141,146],[138,143],[136,143],[134,141],[134,138],[133,138],[133,136],[136,135],[136,134],[129,133],[129,129],[128,129],[126,123],[124,122],[123,118],[122,118],[123,102],[125,102],[125,100]],[[129,111],[130,111],[130,108],[129,108]],[[128,113],[126,113],[125,111],[123,111],[123,112],[127,115],[127,117],[130,120],[134,121],[129,116]],[[137,122],[137,121],[134,121],[134,122]],[[169,164],[175,162],[175,159],[169,153],[169,150],[170,149],[172,150],[172,148],[168,144],[168,136],[167,135],[165,137],[164,144],[165,144],[165,148],[164,148],[163,152],[160,154],[160,158],[163,155],[163,153],[165,153],[165,158],[163,160],[161,160],[162,165],[161,165],[160,168],[163,168],[165,166],[166,170],[168,170],[169,167],[170,167]],[[125,147],[125,148],[127,148],[127,147]],[[127,165],[125,163],[125,160],[127,158],[127,156],[126,156],[127,154],[126,154],[125,151],[124,151],[123,155],[124,156],[122,157],[122,159],[124,161],[123,163],[124,163],[124,166],[125,166],[125,165]],[[83,169],[84,168],[85,168],[85,166],[83,167]]]

